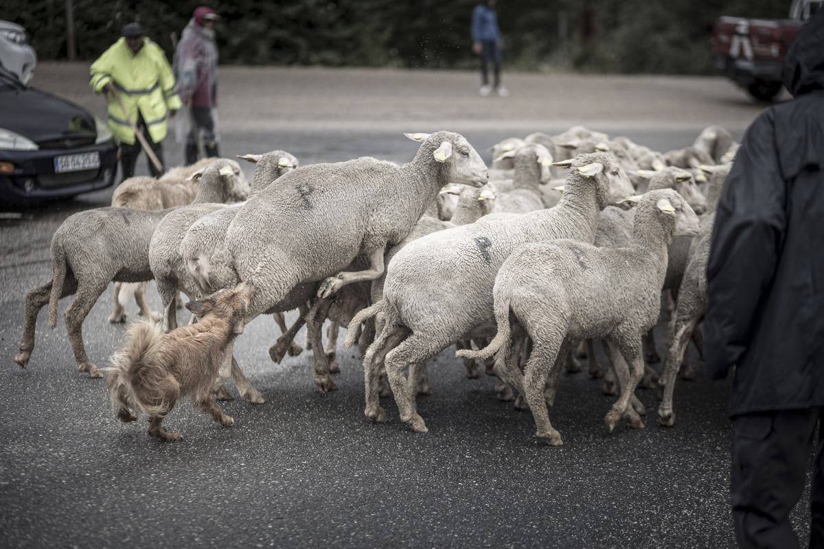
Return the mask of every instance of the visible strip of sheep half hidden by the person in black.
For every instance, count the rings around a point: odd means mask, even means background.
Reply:
[[[658,407],[658,423],[665,427],[675,425],[675,412],[672,410],[675,380],[679,366],[684,362],[690,337],[694,335],[694,330],[704,318],[707,309],[707,263],[714,221],[714,213],[701,221],[700,235],[694,239],[695,245],[691,249],[690,262],[687,263],[678,291],[678,304],[667,327],[667,354],[659,380],[663,388],[663,398]]]

